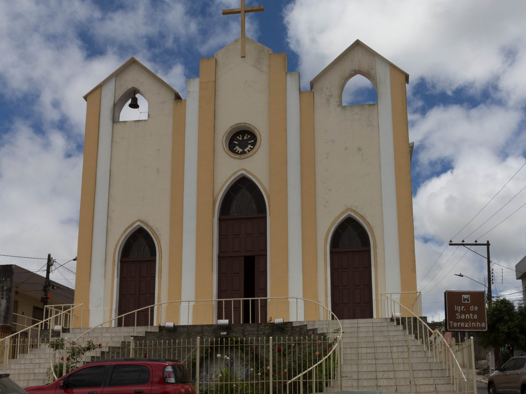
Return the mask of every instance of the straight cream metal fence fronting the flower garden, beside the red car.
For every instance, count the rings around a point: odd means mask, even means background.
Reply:
[[[302,336],[131,338],[99,357],[155,357],[184,362],[196,391],[224,393],[323,392],[339,382],[340,351],[333,333]],[[76,342],[76,346],[80,346]]]

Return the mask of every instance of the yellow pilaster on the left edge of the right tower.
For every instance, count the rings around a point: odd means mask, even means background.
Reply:
[[[300,92],[301,149],[301,254],[303,297],[318,299],[316,260],[316,176],[314,154],[314,94]],[[325,281],[326,283],[327,281]],[[305,306],[305,319],[316,318],[315,308]]]

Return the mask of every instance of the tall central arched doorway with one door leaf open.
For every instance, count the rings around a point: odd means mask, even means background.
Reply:
[[[219,212],[217,298],[267,297],[267,206],[246,177],[235,182]],[[218,303],[218,319],[267,321],[266,301]]]

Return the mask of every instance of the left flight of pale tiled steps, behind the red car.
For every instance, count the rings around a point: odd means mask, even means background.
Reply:
[[[144,336],[147,331],[158,330],[158,326],[137,327],[135,328],[135,336]],[[87,329],[74,328],[70,332],[63,332],[62,337],[72,341],[85,331]],[[120,334],[121,332],[122,334]],[[89,338],[96,344],[100,343],[101,348],[87,352],[84,356],[85,362],[91,361],[93,356],[100,356],[100,353],[108,347],[120,346],[123,341],[129,341],[133,335],[133,327],[119,327],[118,329],[101,327],[93,330],[85,340]],[[22,387],[44,385],[49,382],[46,371],[53,362],[53,356],[53,350],[47,344],[42,344],[38,349],[30,349],[28,353],[21,354],[18,359],[9,360],[7,367],[0,364],[0,370],[10,373],[11,378]],[[55,362],[59,361],[55,360]],[[81,365],[82,362],[78,366]]]

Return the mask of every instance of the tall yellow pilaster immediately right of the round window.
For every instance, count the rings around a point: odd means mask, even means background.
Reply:
[[[287,56],[269,55],[270,297],[288,296]],[[299,280],[299,278],[298,278]],[[269,307],[269,310],[271,308]],[[281,311],[279,313],[282,313]],[[281,314],[284,316],[284,314]]]

